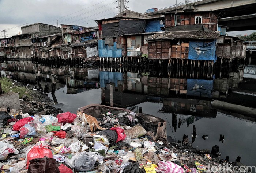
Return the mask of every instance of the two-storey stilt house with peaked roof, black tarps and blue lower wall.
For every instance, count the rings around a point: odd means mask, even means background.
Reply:
[[[145,39],[163,29],[161,18],[125,10],[109,19],[97,20],[99,33],[99,57],[110,61],[135,60],[147,56]],[[121,60],[121,57],[123,59]]]

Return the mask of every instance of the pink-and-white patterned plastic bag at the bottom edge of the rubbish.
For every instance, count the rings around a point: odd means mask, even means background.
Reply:
[[[169,161],[167,161],[167,162],[160,161],[156,168],[156,171],[158,173],[173,172],[174,170],[175,170],[175,173],[183,173],[184,172],[184,169],[181,166],[174,164],[173,162],[169,162]]]

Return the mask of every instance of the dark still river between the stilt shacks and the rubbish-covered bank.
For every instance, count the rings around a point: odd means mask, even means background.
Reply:
[[[213,86],[200,91],[192,84],[194,88],[191,91],[196,92],[184,93],[189,89],[189,83],[195,81],[199,87],[205,83],[213,85],[215,74],[208,75],[210,77],[187,75],[184,82],[181,79],[186,74],[135,67],[44,66],[22,60],[4,61],[0,67],[2,76],[36,86],[45,92],[48,87],[48,97],[63,112],[76,113],[80,107],[89,104],[110,106],[110,88],[113,88],[115,107],[135,113],[140,110],[164,119],[168,139],[178,142],[187,135],[194,148],[211,151],[212,146],[218,145],[222,159],[229,156],[232,162],[240,156],[245,165],[256,163],[256,118],[239,110],[231,111],[236,110],[237,105],[256,108],[256,75],[252,70],[248,72],[249,67],[245,68],[244,80],[238,88],[222,93],[227,94],[227,98],[219,99],[212,98]],[[179,90],[172,90],[173,81],[177,80],[178,84],[174,84]],[[225,107],[226,104],[228,106]],[[192,135],[193,126],[196,127],[196,137]]]

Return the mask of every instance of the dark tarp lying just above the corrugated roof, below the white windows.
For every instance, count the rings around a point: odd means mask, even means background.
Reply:
[[[165,28],[165,31],[211,31],[204,25],[178,25],[174,27]]]

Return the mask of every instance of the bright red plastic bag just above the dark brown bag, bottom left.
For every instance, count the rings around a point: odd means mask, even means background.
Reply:
[[[29,168],[29,161],[35,158],[52,158],[52,151],[49,146],[42,146],[42,144],[34,146],[29,153],[27,153],[27,168]]]

